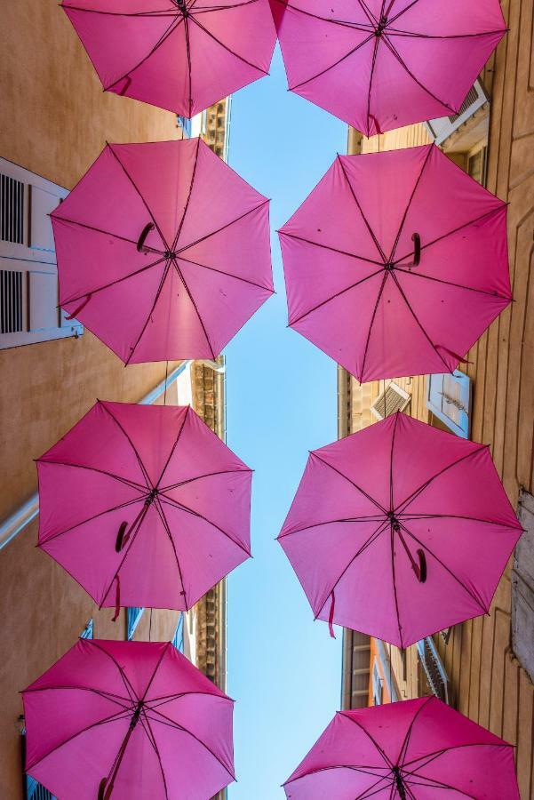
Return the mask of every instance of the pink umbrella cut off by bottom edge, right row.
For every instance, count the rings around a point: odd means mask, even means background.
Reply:
[[[284,788],[291,800],[519,800],[512,745],[435,697],[339,711]]]

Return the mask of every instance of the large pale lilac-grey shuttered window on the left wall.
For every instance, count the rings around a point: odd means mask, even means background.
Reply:
[[[79,336],[58,308],[50,213],[67,189],[0,158],[0,349]]]

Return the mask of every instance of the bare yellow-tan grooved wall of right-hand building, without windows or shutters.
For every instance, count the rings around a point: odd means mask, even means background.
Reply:
[[[514,508],[521,488],[534,492],[534,57],[532,0],[503,2],[510,32],[482,73],[490,99],[486,186],[509,203],[508,246],[514,303],[461,365],[472,381],[472,432],[490,444],[493,460]],[[349,152],[413,147],[428,141],[423,125],[365,140],[349,133]],[[454,140],[444,148],[453,151]],[[460,156],[448,153],[455,161]],[[463,165],[463,164],[462,164]],[[360,384],[339,368],[340,413],[347,433],[370,425],[370,406],[389,381]],[[442,427],[426,408],[426,378],[395,379],[411,396],[407,412]],[[446,429],[446,428],[445,428]],[[488,616],[452,629],[448,644],[435,637],[450,679],[450,702],[475,722],[515,745],[522,800],[534,798],[534,687],[511,647],[511,563]],[[427,692],[415,647],[408,652],[406,680],[400,652],[393,670],[402,698]]]

